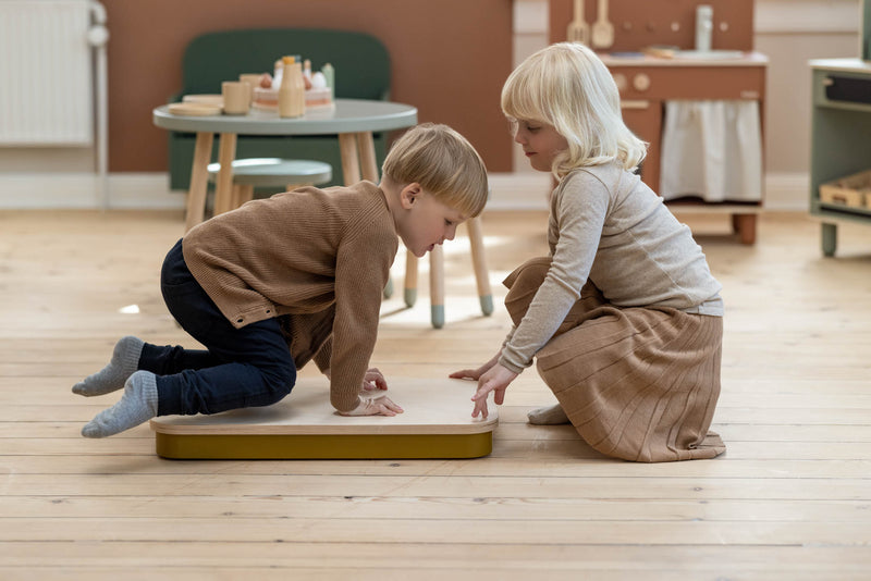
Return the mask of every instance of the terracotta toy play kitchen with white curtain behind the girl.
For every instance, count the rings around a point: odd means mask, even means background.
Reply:
[[[550,41],[580,37],[650,144],[645,183],[675,210],[731,214],[753,244],[768,58],[752,50],[752,0],[551,0]]]

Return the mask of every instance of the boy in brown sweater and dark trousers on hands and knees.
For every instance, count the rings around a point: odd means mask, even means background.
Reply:
[[[394,416],[375,349],[381,293],[398,238],[422,257],[453,239],[487,201],[487,170],[444,125],[406,132],[380,185],[314,187],[254,200],[192,228],[167,255],[161,289],[172,316],[207,350],[115,345],[110,363],[73,386],[85,396],[124,388],[82,430],[106,437],[155,416],[217,413],[286,396],[314,359],[344,416]]]

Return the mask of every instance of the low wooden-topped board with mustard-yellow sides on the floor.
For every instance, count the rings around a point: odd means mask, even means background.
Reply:
[[[477,458],[493,448],[495,406],[473,419],[476,384],[389,378],[385,393],[405,411],[345,417],[330,405],[326,378],[299,379],[268,407],[151,420],[158,456],[174,459]]]

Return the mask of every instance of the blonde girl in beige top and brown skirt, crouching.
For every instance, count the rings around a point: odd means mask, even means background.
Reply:
[[[597,450],[635,461],[713,458],[723,301],[701,248],[638,175],[646,148],[623,123],[602,61],[580,44],[527,59],[502,89],[514,140],[559,180],[550,256],[506,280],[514,325],[478,369],[473,417],[537,359],[557,405],[533,424],[571,421]]]

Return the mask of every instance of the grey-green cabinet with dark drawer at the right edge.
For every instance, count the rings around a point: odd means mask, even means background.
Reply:
[[[838,222],[871,225],[869,206],[820,200],[822,184],[871,170],[871,62],[820,59],[810,61],[810,212],[822,221],[822,251],[831,257],[837,249]],[[839,90],[841,87],[847,88]]]

